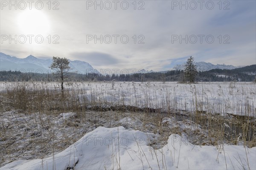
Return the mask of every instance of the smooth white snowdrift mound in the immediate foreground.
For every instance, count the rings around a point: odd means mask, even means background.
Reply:
[[[256,169],[256,147],[197,146],[185,136],[172,134],[158,150],[148,146],[153,133],[122,126],[97,127],[54,156],[18,160],[1,170],[84,169]]]

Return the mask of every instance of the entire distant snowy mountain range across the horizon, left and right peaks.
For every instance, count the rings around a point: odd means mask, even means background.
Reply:
[[[72,72],[79,74],[86,73],[99,73],[96,69],[94,69],[89,63],[79,60],[74,60],[70,62],[70,67],[72,68]],[[37,72],[37,73],[50,73],[51,70],[49,66],[52,63],[52,59],[38,59],[32,55],[29,55],[26,58],[17,58],[11,57],[4,53],[0,53],[0,69],[1,70],[12,70],[12,71],[22,71],[22,72]],[[183,70],[186,63],[175,65],[171,70]],[[195,65],[198,71],[208,71],[212,69],[235,69],[241,68],[243,66],[233,66],[233,65],[225,65],[225,64],[217,64],[214,65],[209,62],[195,62]],[[153,70],[147,71],[145,69],[140,69],[138,73],[152,73],[155,72]],[[161,73],[166,73],[167,71],[160,71]]]

